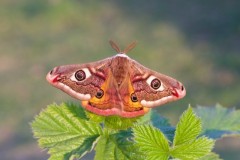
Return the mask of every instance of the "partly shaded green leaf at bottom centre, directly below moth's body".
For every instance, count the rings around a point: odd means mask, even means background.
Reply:
[[[109,133],[109,132],[108,132]],[[143,160],[137,147],[129,139],[128,132],[104,134],[96,145],[95,160]]]

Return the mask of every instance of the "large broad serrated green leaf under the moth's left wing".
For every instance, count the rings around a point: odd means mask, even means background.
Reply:
[[[65,103],[49,105],[31,126],[40,147],[49,149],[50,159],[81,157],[102,134],[101,127],[88,121],[80,106]]]

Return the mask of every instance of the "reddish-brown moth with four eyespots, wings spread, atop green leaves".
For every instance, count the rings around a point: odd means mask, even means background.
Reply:
[[[186,90],[179,81],[150,70],[126,55],[110,41],[117,55],[86,64],[58,66],[46,76],[54,87],[80,100],[97,115],[137,117],[151,108],[181,99]]]

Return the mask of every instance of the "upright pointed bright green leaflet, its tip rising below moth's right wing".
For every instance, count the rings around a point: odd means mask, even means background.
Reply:
[[[182,114],[180,121],[177,124],[173,146],[178,146],[189,141],[195,140],[201,132],[201,120],[189,106]]]

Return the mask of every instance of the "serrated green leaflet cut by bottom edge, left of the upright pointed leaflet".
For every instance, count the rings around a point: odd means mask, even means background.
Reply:
[[[146,154],[147,159],[169,158],[168,140],[160,130],[151,125],[137,125],[133,127],[133,133],[139,150]]]

